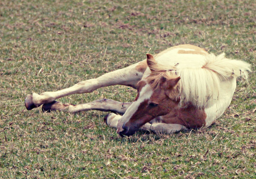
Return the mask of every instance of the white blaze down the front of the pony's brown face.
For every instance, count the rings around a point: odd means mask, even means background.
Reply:
[[[118,132],[122,130],[122,126],[131,119],[133,114],[135,114],[140,104],[145,100],[150,99],[152,94],[153,94],[153,90],[149,84],[146,84],[144,87],[141,88],[138,99],[134,101],[130,107],[128,107],[125,114],[118,121],[118,126],[117,126]]]

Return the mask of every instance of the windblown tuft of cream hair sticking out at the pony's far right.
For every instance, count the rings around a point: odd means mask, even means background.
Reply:
[[[226,59],[225,54],[218,56],[210,54],[207,56],[207,62],[202,68],[208,69],[218,74],[222,80],[226,80],[232,76],[248,78],[248,72],[251,71],[250,64],[233,59]]]

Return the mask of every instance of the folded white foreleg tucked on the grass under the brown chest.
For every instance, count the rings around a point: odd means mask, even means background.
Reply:
[[[181,130],[188,130],[187,127],[181,124],[165,124],[165,123],[146,123],[141,128],[141,130],[148,130],[154,133],[175,133]]]

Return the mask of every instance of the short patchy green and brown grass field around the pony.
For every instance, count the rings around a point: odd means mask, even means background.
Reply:
[[[104,112],[26,111],[56,91],[190,43],[252,64],[211,127],[121,138]],[[1,0],[0,177],[256,178],[255,0]],[[123,86],[59,101],[133,101]]]

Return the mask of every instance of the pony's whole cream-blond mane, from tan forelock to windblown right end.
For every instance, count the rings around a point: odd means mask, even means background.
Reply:
[[[153,69],[153,70],[152,70]],[[226,59],[224,53],[218,56],[205,56],[203,66],[190,68],[189,65],[153,65],[147,81],[152,88],[158,88],[162,77],[168,79],[181,77],[177,88],[181,105],[188,102],[197,107],[207,107],[218,99],[221,81],[232,77],[248,78],[250,65],[239,60]]]

